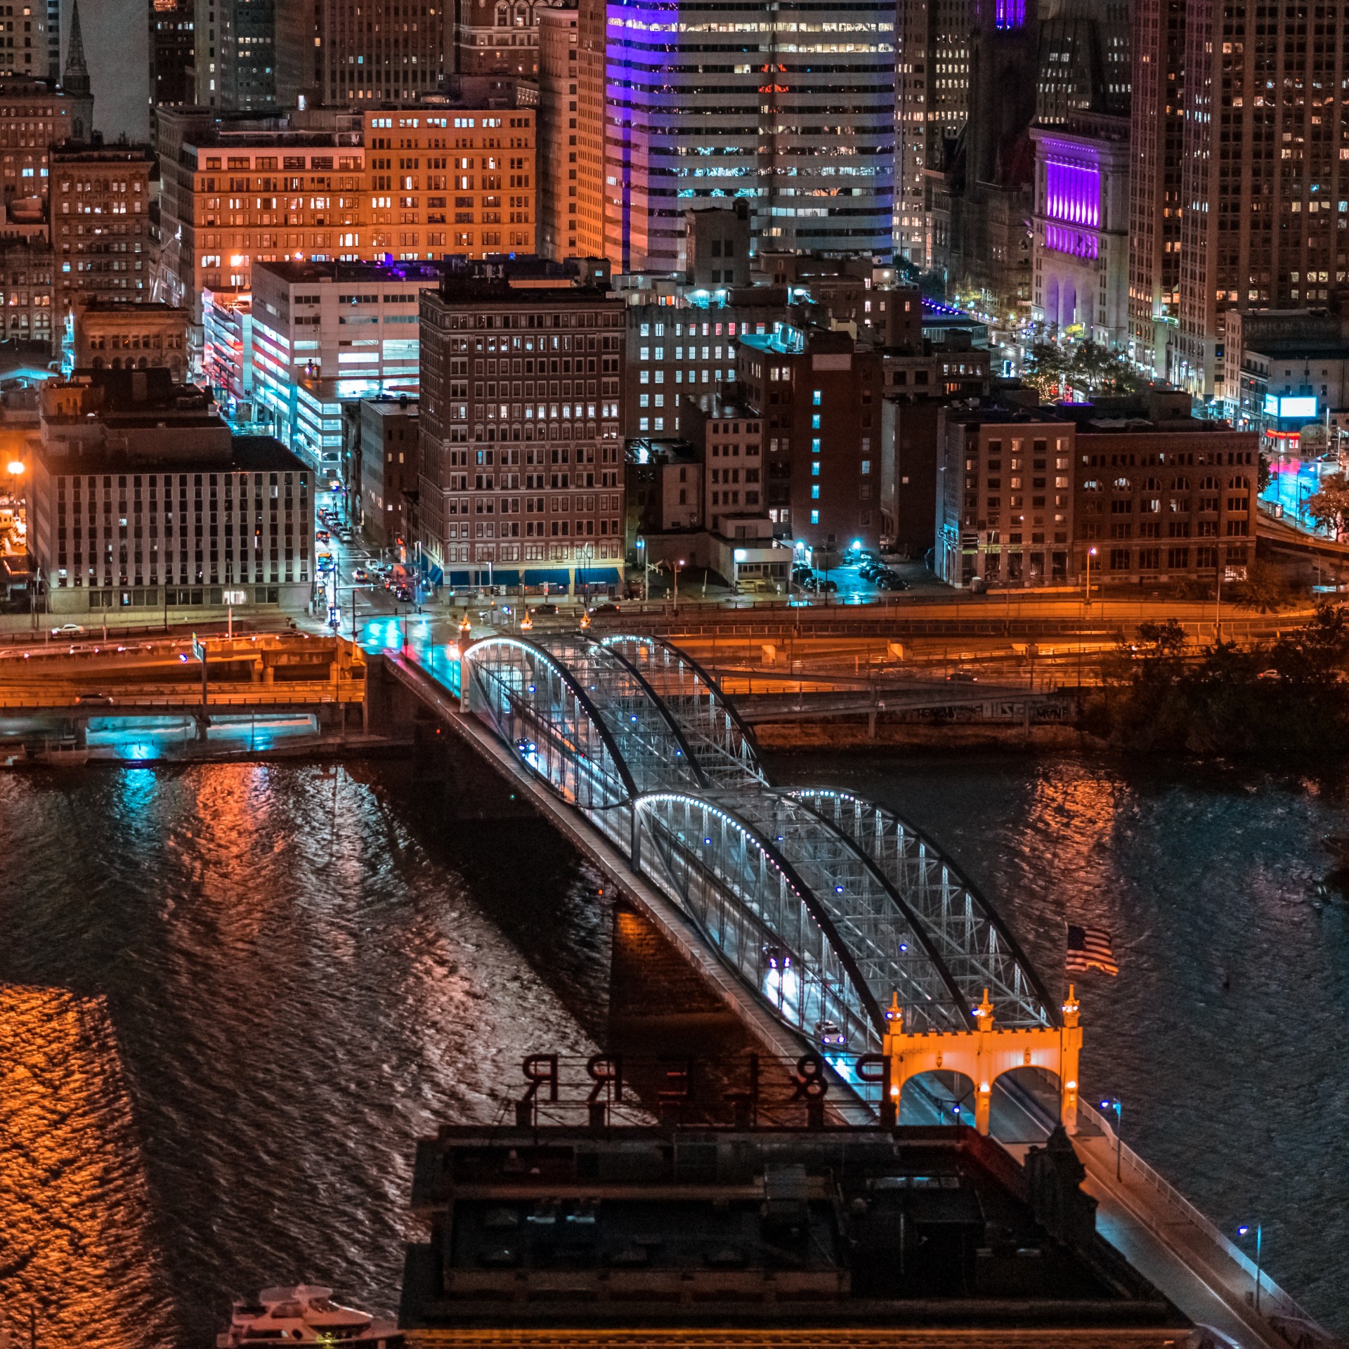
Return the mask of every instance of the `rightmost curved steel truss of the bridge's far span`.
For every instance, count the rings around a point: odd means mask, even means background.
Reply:
[[[669,708],[707,781],[722,788],[768,784],[754,733],[692,657],[657,637],[616,633],[602,642]]]

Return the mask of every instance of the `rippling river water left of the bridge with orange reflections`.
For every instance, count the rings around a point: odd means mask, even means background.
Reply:
[[[50,1106],[117,1202],[113,1256],[74,1224],[78,1244],[0,1280],[0,1299],[51,1300],[47,1344],[209,1344],[231,1292],[271,1283],[395,1310],[415,1139],[498,1117],[525,1052],[596,1052],[568,1010],[591,1020],[594,966],[607,977],[592,882],[550,835],[514,828],[503,859],[490,827],[433,827],[424,805],[403,765],[0,777],[0,981],[70,990],[5,1018],[11,1059],[61,1086],[59,1000],[98,998],[125,1071],[115,1090],[112,1068],[81,1060],[88,1099]],[[112,1031],[90,1043],[111,1048]],[[73,1201],[30,1183],[12,1140],[31,1132],[0,1139],[0,1232],[42,1245]],[[70,1172],[85,1202],[86,1170]],[[123,1175],[143,1175],[139,1210]],[[90,1299],[96,1331],[80,1325]]]

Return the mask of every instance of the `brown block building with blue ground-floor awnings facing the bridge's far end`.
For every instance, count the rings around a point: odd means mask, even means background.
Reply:
[[[556,263],[422,294],[420,541],[451,584],[621,581],[623,308]]]

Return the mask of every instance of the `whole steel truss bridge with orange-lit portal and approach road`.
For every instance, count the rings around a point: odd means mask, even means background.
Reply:
[[[463,634],[457,646],[401,646],[371,664],[372,680],[391,677],[517,782],[766,1050],[799,1055],[819,1050],[822,1035],[846,1039],[846,1054],[824,1047],[844,1118],[886,1118],[881,1089],[855,1071],[858,1055],[973,1045],[992,1017],[1010,1033],[1004,1045],[1062,1054],[1081,1036],[1075,1004],[1051,996],[932,839],[850,793],[776,788],[734,701],[669,642]],[[1246,1256],[1121,1147],[1075,1089],[1060,1081],[1048,1108],[1035,1091],[1005,1090],[992,1113],[981,1102],[979,1126],[1016,1153],[1062,1117],[1099,1230],[1186,1315],[1242,1346],[1329,1345],[1267,1276],[1256,1311]],[[907,1118],[923,1106],[912,1097]]]

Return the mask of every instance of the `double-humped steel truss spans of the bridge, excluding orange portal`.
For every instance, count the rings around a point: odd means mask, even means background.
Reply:
[[[784,1024],[876,1051],[912,1029],[1056,1024],[1012,934],[932,842],[826,789],[774,789],[716,681],[654,637],[487,637],[469,708],[618,844]]]

